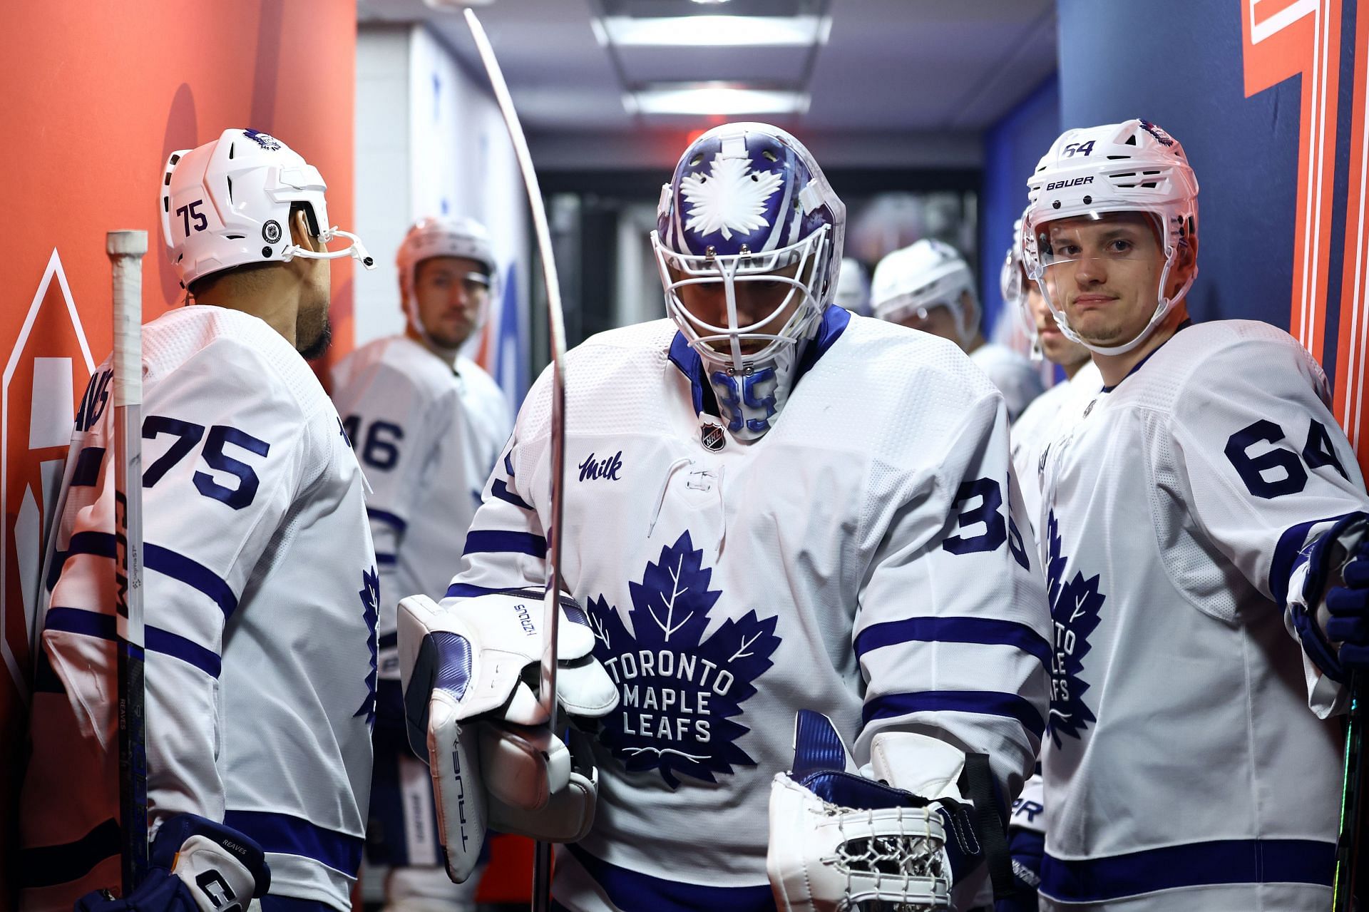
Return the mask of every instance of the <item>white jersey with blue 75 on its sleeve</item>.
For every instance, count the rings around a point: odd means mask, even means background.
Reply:
[[[361,474],[309,366],[194,305],[142,327],[149,816],[257,839],[271,893],[350,909],[375,702]],[[119,883],[114,396],[77,415],[41,605],[21,908]]]

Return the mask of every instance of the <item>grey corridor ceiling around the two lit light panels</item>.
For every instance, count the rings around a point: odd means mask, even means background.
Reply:
[[[745,12],[745,4],[826,5],[830,40],[812,59],[801,48],[626,48],[615,59],[590,27],[601,10]],[[965,147],[1055,68],[1054,0],[732,0],[719,7],[683,0],[494,0],[478,12],[519,115],[539,141],[534,151],[552,137],[641,147],[643,134],[678,136],[705,123],[630,115],[624,89],[742,78],[806,88],[808,114],[786,123],[802,134],[868,136],[884,145],[916,137],[913,145]],[[434,12],[422,0],[357,0],[357,18],[363,25],[426,21],[472,73],[481,71],[460,15]],[[674,141],[665,145],[678,148]]]

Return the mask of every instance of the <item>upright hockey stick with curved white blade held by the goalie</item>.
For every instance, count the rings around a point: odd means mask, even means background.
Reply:
[[[465,25],[471,29],[475,47],[481,52],[481,63],[490,77],[494,100],[498,101],[504,126],[508,127],[523,173],[523,188],[533,210],[533,230],[537,234],[537,251],[542,259],[542,274],[546,279],[546,316],[552,348],[552,527],[546,535],[546,596],[542,603],[545,639],[542,646],[541,686],[538,702],[548,715],[548,724],[556,729],[556,637],[560,631],[561,592],[561,501],[565,494],[565,319],[561,315],[561,286],[556,278],[556,260],[552,259],[552,231],[546,226],[546,207],[542,204],[542,190],[533,170],[533,156],[527,151],[527,138],[519,123],[513,99],[504,82],[500,62],[494,59],[494,48],[481,27],[481,21],[470,8],[465,11]],[[549,912],[552,908],[552,846],[538,842],[533,853],[533,912]]]

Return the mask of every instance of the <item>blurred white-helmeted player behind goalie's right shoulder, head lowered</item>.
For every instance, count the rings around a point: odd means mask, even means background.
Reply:
[[[923,238],[894,251],[875,267],[871,285],[875,316],[960,345],[1003,394],[1008,420],[1040,394],[1040,375],[1031,362],[984,341],[975,278],[950,244]]]

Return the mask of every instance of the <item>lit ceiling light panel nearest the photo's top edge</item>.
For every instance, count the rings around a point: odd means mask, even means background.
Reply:
[[[620,47],[805,47],[827,41],[831,16],[604,16],[600,44]]]

